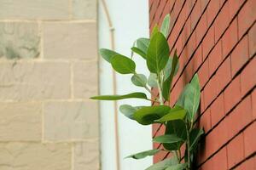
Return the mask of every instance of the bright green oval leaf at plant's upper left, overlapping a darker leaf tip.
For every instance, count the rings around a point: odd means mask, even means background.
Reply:
[[[135,73],[135,62],[123,55],[114,55],[111,58],[111,65],[113,69],[120,74]]]

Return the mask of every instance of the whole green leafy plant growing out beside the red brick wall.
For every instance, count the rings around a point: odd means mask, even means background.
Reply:
[[[120,105],[119,111],[133,121],[143,126],[161,123],[166,127],[165,135],[157,136],[154,143],[163,145],[163,149],[146,150],[127,158],[143,159],[146,156],[154,156],[161,150],[171,152],[172,157],[160,161],[148,167],[147,170],[191,170],[195,160],[196,148],[199,144],[203,129],[195,125],[195,117],[200,105],[200,84],[195,74],[192,80],[183,88],[175,105],[165,105],[172,99],[172,80],[178,71],[177,51],[170,57],[170,48],[167,42],[169,34],[170,15],[166,15],[162,26],[154,26],[150,38],[139,38],[132,53],[136,53],[145,59],[150,71],[149,77],[136,71],[136,63],[131,57],[102,48],[100,54],[108,61],[113,70],[119,74],[131,74],[131,82],[138,87],[158,88],[159,95],[154,99],[148,99],[142,92],[125,95],[102,95],[90,99],[119,100],[119,99],[146,99],[154,102],[154,105]],[[181,147],[184,146],[185,150]]]

